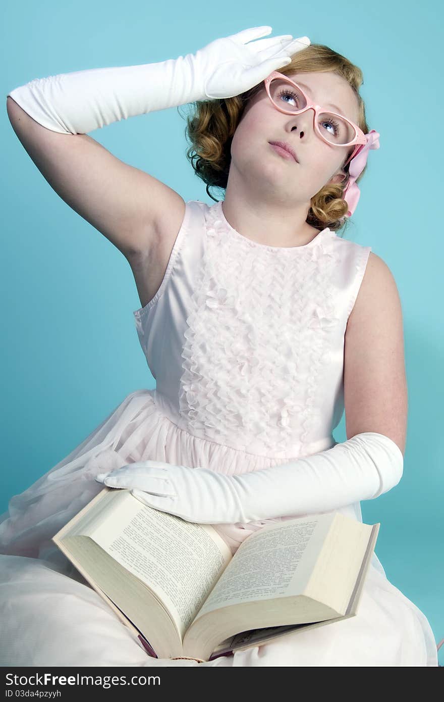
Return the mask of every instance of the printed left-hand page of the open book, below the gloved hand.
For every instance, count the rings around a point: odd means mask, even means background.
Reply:
[[[209,524],[155,510],[129,493],[117,517],[111,515],[90,537],[156,593],[181,638],[232,558]]]

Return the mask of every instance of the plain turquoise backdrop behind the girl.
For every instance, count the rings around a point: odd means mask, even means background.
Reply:
[[[271,11],[261,0],[172,1],[161,8],[133,0],[124,5],[79,0],[74,10],[55,1],[27,0],[7,4],[2,15],[0,512],[130,392],[155,384],[137,340],[133,310],[140,301],[126,259],[41,176],[9,123],[7,93],[38,77],[177,58],[247,27],[269,25],[274,36],[307,35],[363,69],[368,124],[381,135],[379,151],[370,152],[346,236],[372,246],[398,285],[408,437],[401,483],[361,506],[364,522],[381,522],[376,552],[387,577],[422,609],[439,642],[444,637],[443,234],[436,205],[442,198],[442,4],[284,2]],[[438,117],[434,139],[429,114]],[[171,108],[116,122],[94,131],[93,138],[185,201],[213,204],[185,156],[184,128],[184,119]],[[344,417],[335,439],[347,439]]]

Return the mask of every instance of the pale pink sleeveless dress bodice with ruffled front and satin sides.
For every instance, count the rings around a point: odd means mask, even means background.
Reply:
[[[133,312],[159,410],[193,437],[257,456],[330,448],[369,253],[328,227],[305,246],[258,244],[221,202],[187,202],[160,289]]]

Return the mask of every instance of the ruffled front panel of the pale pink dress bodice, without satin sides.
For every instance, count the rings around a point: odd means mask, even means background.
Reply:
[[[251,453],[298,455],[314,437],[316,398],[341,321],[328,228],[309,246],[258,246],[206,212],[184,332],[180,415],[192,435]]]

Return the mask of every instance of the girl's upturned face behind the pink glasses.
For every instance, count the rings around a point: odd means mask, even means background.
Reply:
[[[292,73],[293,81],[316,105],[343,114],[357,124],[358,102],[342,77],[332,72]],[[296,153],[297,161],[285,159],[269,144],[285,141]],[[262,88],[248,103],[231,143],[231,184],[238,180],[251,187],[256,196],[268,201],[285,201],[287,206],[307,206],[311,197],[328,182],[343,179],[342,164],[350,147],[325,143],[314,131],[314,111],[303,114],[279,112]],[[248,185],[249,184],[249,185]]]

